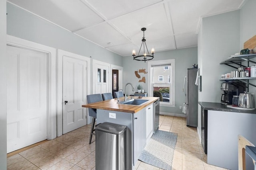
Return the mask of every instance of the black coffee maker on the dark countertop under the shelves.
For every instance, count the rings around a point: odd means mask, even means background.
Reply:
[[[220,103],[224,105],[232,104],[233,96],[239,96],[243,92],[243,88],[230,83],[221,83],[220,90],[223,91]]]

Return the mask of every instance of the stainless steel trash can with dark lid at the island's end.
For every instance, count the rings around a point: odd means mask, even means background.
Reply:
[[[126,129],[124,125],[96,125],[96,170],[126,169]]]

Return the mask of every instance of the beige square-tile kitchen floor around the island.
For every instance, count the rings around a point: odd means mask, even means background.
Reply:
[[[178,133],[172,170],[222,170],[206,163],[196,128],[186,118],[160,116],[160,130]],[[95,142],[88,144],[90,125],[7,158],[8,170],[95,170]],[[95,141],[93,137],[92,141]],[[136,170],[160,170],[138,161]]]

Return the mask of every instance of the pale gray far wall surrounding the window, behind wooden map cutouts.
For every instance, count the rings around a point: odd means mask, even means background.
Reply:
[[[176,113],[182,114],[182,109],[179,106],[182,106],[183,103],[186,102],[186,98],[184,96],[183,83],[184,77],[186,76],[186,68],[192,68],[192,65],[197,64],[197,47],[178,49],[178,50],[170,50],[170,51],[162,51],[157,52],[155,54],[154,61],[156,60],[167,60],[167,59],[175,59],[175,107],[160,107],[160,112],[165,113]],[[138,78],[135,76],[134,71],[137,71],[142,68],[146,68],[148,71],[148,63],[144,63],[143,61],[134,61],[133,57],[124,57],[123,58],[123,67],[124,67],[124,86],[127,82],[131,82],[134,85],[135,91],[137,91],[137,86],[140,84],[145,92],[148,92],[148,74],[145,74],[146,83],[138,82]],[[140,74],[141,76],[143,74]],[[124,90],[124,87],[123,87]],[[127,86],[128,94],[134,94],[132,92],[130,86]]]

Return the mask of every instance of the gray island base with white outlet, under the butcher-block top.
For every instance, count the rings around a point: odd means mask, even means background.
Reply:
[[[148,109],[149,107],[150,109]],[[151,126],[146,125],[148,123],[147,119],[151,119],[151,110],[153,110],[152,107],[153,105],[150,105],[138,111],[137,113],[126,113],[121,111],[97,109],[97,124],[110,122],[118,125],[125,125],[128,127],[128,152],[126,153],[126,169],[131,170],[134,167],[134,165],[138,161],[142,150],[146,146],[147,137],[149,137],[150,135],[147,134],[147,132],[153,131],[153,122],[150,121],[152,123]],[[110,116],[110,114],[112,116]],[[116,118],[112,118],[114,117],[113,114]],[[147,118],[147,116],[150,117]],[[150,127],[152,128],[151,130],[147,129]],[[151,136],[152,135],[150,135],[150,137]]]

